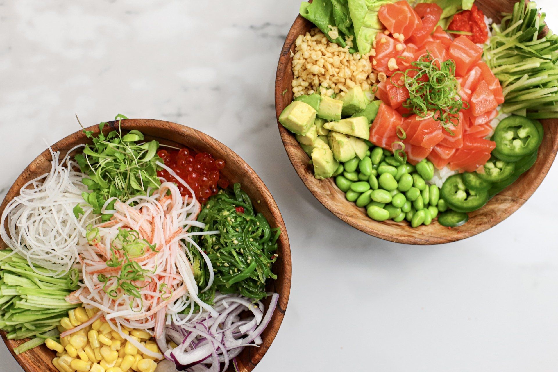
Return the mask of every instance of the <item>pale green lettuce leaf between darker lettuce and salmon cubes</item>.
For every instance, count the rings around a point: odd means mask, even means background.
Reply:
[[[395,2],[396,0],[348,0],[360,54],[367,54],[372,49],[378,32],[385,29],[378,18],[379,9],[385,4]]]

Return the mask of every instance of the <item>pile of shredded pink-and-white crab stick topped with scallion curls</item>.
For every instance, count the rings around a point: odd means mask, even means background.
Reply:
[[[167,313],[176,317],[177,313],[189,306],[194,308],[196,304],[200,313],[217,315],[198,297],[200,291],[187,257],[188,248],[181,241],[194,234],[188,232],[190,226],[200,226],[195,221],[200,211],[199,202],[182,196],[172,182],[163,182],[151,196],[138,196],[126,203],[116,201],[114,211],[111,211],[114,212],[112,220],[95,225],[95,234],[89,236],[92,239],[88,246],[80,249],[78,265],[83,283],[66,300],[98,308],[122,337],[121,325],[145,330],[153,328],[150,333],[160,337]],[[203,228],[204,224],[200,227]],[[118,248],[117,235],[121,230],[137,231],[138,239],[154,247],[150,249],[146,244],[141,255],[128,258],[140,265],[145,273],[143,280],[133,283],[139,296],[127,294],[118,287],[124,255],[122,250],[110,248]],[[218,231],[201,234],[216,233]],[[113,255],[117,256],[120,265],[107,264],[114,259]],[[212,272],[213,267],[206,256],[205,263]],[[108,292],[109,288],[117,288],[117,295],[108,296],[104,289]]]

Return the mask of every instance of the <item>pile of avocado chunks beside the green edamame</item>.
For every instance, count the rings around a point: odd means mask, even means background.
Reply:
[[[279,122],[295,133],[312,159],[314,176],[322,180],[334,175],[339,162],[366,156],[364,140],[370,136],[380,102],[370,102],[360,86],[349,89],[341,99],[301,95],[283,110]]]

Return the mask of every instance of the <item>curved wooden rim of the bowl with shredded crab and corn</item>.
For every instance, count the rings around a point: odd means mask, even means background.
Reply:
[[[270,324],[266,328],[266,335],[262,335],[262,339],[263,339],[262,345],[260,345],[257,349],[254,349],[254,351],[252,351],[253,348],[247,347],[240,354],[243,355],[244,353],[247,353],[248,356],[246,357],[246,360],[243,361],[242,365],[240,365],[239,367],[240,370],[243,372],[252,371],[259,363],[259,361],[262,359],[262,357],[266,354],[267,350],[271,347],[273,340],[275,340],[275,336],[277,335],[277,332],[283,321],[283,317],[285,316],[285,312],[288,304],[288,298],[290,296],[290,289],[291,289],[292,262],[291,262],[290,243],[288,240],[285,221],[283,221],[281,212],[275,202],[275,199],[273,199],[273,196],[271,195],[271,192],[267,189],[267,186],[263,183],[261,178],[252,169],[252,167],[248,165],[248,163],[246,163],[242,158],[240,158],[240,156],[238,156],[238,154],[232,151],[229,147],[217,141],[217,139],[208,136],[208,134],[200,132],[194,128],[186,127],[186,125],[166,122],[164,120],[125,119],[122,120],[121,123],[122,123],[122,129],[127,131],[131,129],[137,129],[145,133],[145,131],[148,129],[157,130],[160,128],[169,128],[170,131],[176,134],[181,134],[182,136],[198,137],[200,141],[203,141],[209,147],[215,148],[215,146],[218,146],[222,148],[223,152],[226,152],[228,155],[228,158],[224,159],[225,162],[233,160],[235,162],[240,163],[240,165],[242,165],[242,168],[238,172],[235,171],[234,173],[235,174],[246,173],[246,178],[250,182],[254,183],[254,185],[256,185],[259,190],[261,190],[261,194],[262,194],[261,205],[267,207],[267,209],[270,212],[270,215],[272,216],[272,220],[270,220],[270,225],[281,228],[281,235],[278,238],[279,249],[281,250],[281,254],[280,254],[281,260],[278,260],[277,263],[281,264],[282,274],[281,276],[278,276],[278,278],[271,283],[280,282],[282,290],[278,291],[280,292],[279,293],[280,297],[278,299],[275,312],[273,312],[273,316],[271,318]],[[118,128],[118,120],[113,120],[111,122],[108,122],[107,124],[108,125],[105,125],[105,127],[103,128],[104,133],[107,133],[109,131]],[[93,131],[94,134],[98,134],[99,126],[92,125],[91,127],[85,128],[85,130]],[[146,137],[147,136],[148,134],[146,134]],[[157,138],[157,136],[158,134],[152,135],[150,137]],[[176,136],[176,138],[166,138],[166,137],[159,136],[158,138],[166,139],[175,143],[181,143],[182,137]],[[57,141],[55,144],[53,144],[51,148],[53,151],[57,151],[60,148],[68,147],[68,144],[70,143],[79,144],[79,143],[86,143],[86,142],[88,142],[88,138],[86,138],[83,131],[78,131],[60,139],[60,141]],[[22,178],[25,178],[26,181],[32,179],[31,176],[33,174],[33,168],[37,166],[41,166],[42,164],[44,164],[44,162],[50,162],[51,160],[52,158],[49,149],[47,148],[45,149],[45,151],[40,153],[39,156],[37,156],[33,161],[31,161],[31,163],[25,168],[25,170],[23,170],[23,172],[16,178],[13,185],[9,188],[6,197],[4,197],[4,200],[0,205],[0,214],[2,214],[2,211],[4,210],[4,207],[6,207],[6,204],[9,202],[9,200],[11,200],[13,196],[19,194],[20,186],[18,186],[18,182],[20,182]],[[258,208],[256,207],[256,209]],[[0,240],[0,243],[5,245],[5,243],[2,240]],[[23,370],[25,370],[26,372],[37,372],[39,370],[36,369],[35,367],[37,366],[38,362],[44,361],[44,356],[39,355],[36,352],[37,349],[33,349],[30,351],[23,352],[22,354],[16,355],[15,352],[13,351],[13,348],[16,347],[17,345],[22,344],[23,340],[18,340],[18,341],[7,340],[6,332],[0,331],[0,334],[2,336],[2,339],[4,340],[4,344],[6,344],[8,350],[11,352],[12,356],[20,364]],[[50,350],[46,349],[45,345],[41,345],[40,348],[45,349],[48,352],[51,352]],[[52,366],[50,359],[47,361],[47,364],[51,366],[51,370],[53,372],[56,371],[54,366]],[[228,370],[234,370],[232,368],[233,367],[231,362],[231,365],[229,366]]]

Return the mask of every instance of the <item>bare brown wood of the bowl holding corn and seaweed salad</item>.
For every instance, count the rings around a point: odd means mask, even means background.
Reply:
[[[108,125],[105,125],[105,128],[103,128],[103,132],[108,133],[117,128],[118,121],[109,122]],[[87,129],[93,131],[95,134],[99,133],[98,125],[94,125]],[[272,227],[281,228],[281,235],[277,240],[279,257],[275,265],[273,265],[273,272],[277,274],[277,279],[268,283],[267,286],[267,291],[280,294],[277,308],[273,313],[270,324],[262,334],[263,344],[259,347],[246,347],[237,357],[240,371],[252,371],[262,359],[263,355],[266,354],[267,349],[269,349],[273,339],[275,339],[277,335],[277,331],[285,315],[291,289],[291,250],[288,243],[285,223],[283,222],[283,218],[281,217],[275,200],[273,200],[266,185],[264,185],[256,172],[254,172],[246,162],[230,148],[216,139],[209,137],[207,134],[185,127],[184,125],[149,119],[122,120],[122,129],[137,129],[145,134],[147,139],[157,139],[157,141],[165,144],[182,144],[196,151],[209,152],[216,158],[222,158],[225,160],[225,168],[221,171],[223,175],[230,180],[231,184],[234,182],[242,183],[243,190],[252,198],[258,212],[261,212],[267,218]],[[82,131],[79,131],[56,142],[52,146],[52,149],[54,151],[59,150],[61,154],[65,154],[68,149],[74,147],[76,144],[90,142],[90,139],[86,138]],[[19,194],[23,184],[50,170],[51,160],[50,152],[46,149],[31,162],[9,189],[6,198],[0,206],[0,214],[2,214],[6,204],[14,196]],[[0,248],[6,248],[6,244],[2,240],[0,240]],[[265,305],[267,307],[269,301],[265,302]],[[24,352],[23,354],[15,355],[13,348],[22,344],[23,340],[6,340],[5,332],[1,332],[1,334],[8,349],[26,372],[57,372],[51,363],[52,359],[55,357],[54,351],[42,345]],[[228,371],[234,371],[232,364]]]

